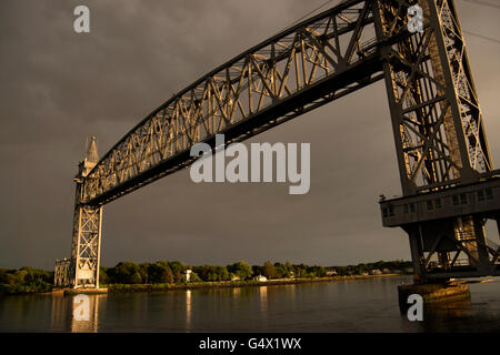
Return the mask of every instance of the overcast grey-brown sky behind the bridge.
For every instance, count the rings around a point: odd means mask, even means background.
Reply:
[[[2,0],[0,267],[69,257],[77,164],[100,156],[173,92],[274,34],[323,0]],[[88,34],[73,9],[90,8]],[[500,10],[457,1],[462,27],[500,40]],[[496,166],[500,43],[466,34]],[[344,265],[410,258],[381,226],[378,195],[400,194],[383,82],[248,142],[311,144],[311,189],[196,184],[183,170],[104,207],[101,264],[267,260]]]

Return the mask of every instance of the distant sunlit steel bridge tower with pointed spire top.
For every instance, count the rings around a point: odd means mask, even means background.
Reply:
[[[102,206],[81,203],[84,195],[83,181],[98,161],[97,140],[92,136],[74,176],[77,192],[74,196],[70,276],[68,277],[69,286],[73,288],[99,287]]]

